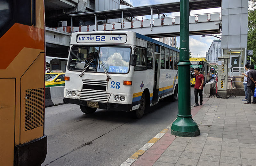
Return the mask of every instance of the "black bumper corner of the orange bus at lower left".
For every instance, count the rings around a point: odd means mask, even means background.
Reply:
[[[15,146],[14,166],[40,166],[47,153],[47,136]]]

